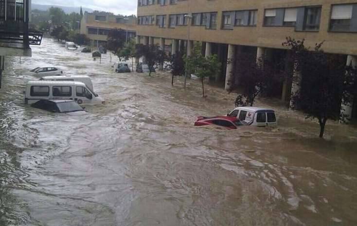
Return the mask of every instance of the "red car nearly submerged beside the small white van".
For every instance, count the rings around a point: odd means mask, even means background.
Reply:
[[[246,122],[230,116],[203,117],[199,116],[195,126],[217,125],[227,129],[237,129],[239,126],[247,125]]]

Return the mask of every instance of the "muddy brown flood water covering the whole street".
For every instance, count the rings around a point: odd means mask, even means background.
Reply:
[[[168,74],[116,74],[109,56],[44,39],[7,58],[0,90],[0,226],[357,225],[357,131],[319,126],[275,100],[276,128],[196,128],[234,95]],[[88,116],[24,104],[29,69],[89,75]],[[270,105],[268,105],[269,103]]]

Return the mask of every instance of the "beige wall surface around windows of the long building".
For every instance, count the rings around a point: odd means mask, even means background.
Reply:
[[[170,15],[183,13],[218,12],[217,29],[191,26],[192,40],[234,45],[282,48],[287,36],[306,39],[306,45],[324,41],[322,48],[326,52],[357,55],[357,33],[328,32],[331,4],[356,3],[356,0],[184,0],[175,5],[158,4],[138,7],[138,16]],[[295,32],[294,27],[263,27],[264,9],[322,5],[319,32]],[[258,9],[256,27],[234,27],[233,30],[221,30],[222,11]],[[137,35],[175,39],[187,39],[187,26],[159,28],[156,25],[138,25]]]

